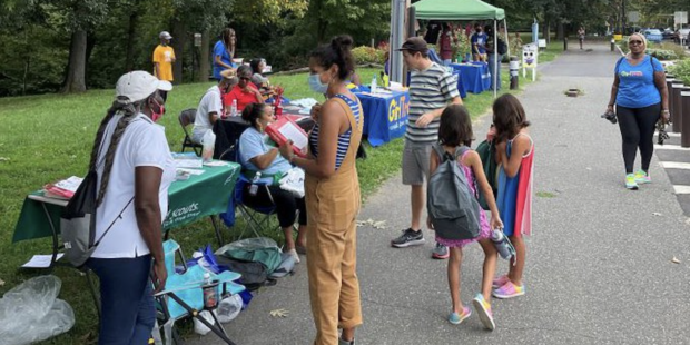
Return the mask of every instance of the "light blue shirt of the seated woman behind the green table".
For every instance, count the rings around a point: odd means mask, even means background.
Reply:
[[[283,156],[278,155],[268,168],[259,170],[249,159],[268,152],[274,146],[268,144],[268,135],[264,135],[254,127],[247,128],[239,136],[239,161],[241,166],[252,171],[262,171],[263,175],[276,175],[287,172],[293,166]],[[273,183],[272,177],[262,178],[262,183]]]

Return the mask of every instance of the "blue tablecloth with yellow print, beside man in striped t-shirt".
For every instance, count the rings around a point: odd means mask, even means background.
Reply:
[[[392,93],[357,92],[364,110],[364,134],[372,146],[381,146],[402,137],[407,128],[410,93],[407,91]]]

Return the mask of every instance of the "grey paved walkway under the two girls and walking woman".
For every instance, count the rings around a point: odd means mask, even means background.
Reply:
[[[433,233],[425,231],[424,246],[390,246],[408,226],[410,193],[397,176],[367,200],[359,216],[385,220],[386,228],[363,226],[358,231],[365,324],[357,344],[690,342],[687,218],[657,158],[653,184],[624,189],[618,127],[599,117],[618,56],[608,45],[591,48],[545,65],[541,81],[520,96],[536,144],[528,294],[494,302],[493,333],[475,316],[460,326],[447,323],[446,262],[430,258]],[[584,96],[565,97],[569,88],[580,88]],[[486,129],[485,122],[476,124],[476,137]],[[681,263],[671,263],[673,257]],[[479,290],[482,259],[477,245],[465,250],[464,303]],[[506,263],[500,264],[499,272],[505,272]],[[278,308],[290,314],[270,317]],[[305,267],[258,293],[226,329],[238,344],[309,344],[315,332]],[[189,343],[220,344],[213,335]]]

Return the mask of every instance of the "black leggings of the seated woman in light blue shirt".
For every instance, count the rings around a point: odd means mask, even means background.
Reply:
[[[299,225],[307,224],[307,210],[304,204],[304,198],[295,198],[295,196],[280,189],[280,186],[259,186],[256,196],[249,195],[250,184],[244,190],[245,205],[249,207],[270,207],[275,203],[276,214],[278,215],[278,223],[280,227],[286,228],[295,224],[295,211],[299,210]],[[270,191],[270,196],[268,193]],[[273,197],[273,203],[270,201]]]

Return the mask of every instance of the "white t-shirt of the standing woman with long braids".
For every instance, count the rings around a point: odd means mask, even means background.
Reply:
[[[97,162],[99,188],[110,138],[120,118],[120,115],[114,116],[103,134],[103,148]],[[170,156],[170,148],[168,147],[164,128],[154,124],[144,114],[137,115],[127,126],[115,151],[106,196],[96,213],[97,239],[101,237],[110,224],[112,224],[112,220],[122,211],[125,205],[135,196],[136,167],[157,167],[162,169],[160,188],[158,189],[160,223],[162,224],[168,213],[168,187],[175,180],[175,164]],[[160,235],[162,236],[162,234]],[[101,239],[91,256],[98,258],[122,258],[138,257],[149,253],[150,250],[146,241],[144,241],[137,225],[132,200],[122,211],[121,218],[115,221],[112,228]]]

